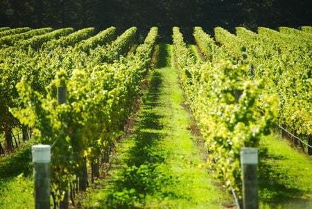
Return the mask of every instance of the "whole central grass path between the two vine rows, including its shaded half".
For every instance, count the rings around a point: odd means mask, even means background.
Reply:
[[[189,113],[171,65],[171,46],[161,45],[157,68],[130,137],[119,143],[104,189],[85,204],[102,208],[224,208],[232,203],[205,168],[189,131]]]

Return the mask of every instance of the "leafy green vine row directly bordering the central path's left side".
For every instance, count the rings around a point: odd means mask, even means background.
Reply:
[[[87,28],[81,30],[84,32],[79,33],[80,36],[69,35],[66,39],[77,42],[93,30]],[[119,136],[120,127],[130,115],[148,71],[156,37],[157,28],[153,28],[146,37],[146,44],[139,46],[137,53],[121,57],[119,62],[112,64],[88,61],[89,57],[78,48],[55,48],[48,61],[38,64],[55,60],[58,66],[62,62],[58,71],[55,66],[42,66],[45,73],[51,73],[48,79],[40,76],[39,71],[24,75],[17,84],[19,102],[23,105],[10,112],[21,123],[34,127],[38,143],[53,144],[51,189],[58,195],[58,200],[73,176],[79,174],[84,158],[89,162],[96,161],[112,139]],[[88,42],[83,44],[92,47]],[[125,48],[122,44],[128,46],[129,42],[124,40],[118,44]],[[40,86],[45,88],[37,87],[35,82],[42,82]],[[67,102],[58,105],[56,89],[61,86],[67,87]]]

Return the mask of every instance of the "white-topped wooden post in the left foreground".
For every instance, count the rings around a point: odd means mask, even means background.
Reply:
[[[35,183],[35,208],[50,208],[51,146],[33,145],[33,176]]]

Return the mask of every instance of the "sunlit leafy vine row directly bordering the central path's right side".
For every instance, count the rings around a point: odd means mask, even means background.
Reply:
[[[246,80],[247,66],[193,62],[185,57],[188,49],[179,28],[173,28],[173,44],[182,87],[210,152],[209,165],[241,195],[241,147],[255,147],[261,134],[269,133],[275,102],[261,93],[263,80]],[[259,98],[267,102],[263,117]]]

